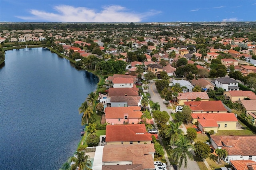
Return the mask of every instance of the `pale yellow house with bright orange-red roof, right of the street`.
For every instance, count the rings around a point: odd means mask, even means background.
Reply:
[[[234,113],[194,113],[191,114],[193,123],[203,132],[214,130],[236,130],[236,116]]]

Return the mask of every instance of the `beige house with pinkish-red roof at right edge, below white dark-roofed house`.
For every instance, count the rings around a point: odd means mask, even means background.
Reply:
[[[247,97],[251,100],[256,99],[256,95],[252,91],[242,91],[242,90],[239,90],[239,91],[225,91],[223,93],[223,95],[225,97],[228,97],[232,102],[244,100],[244,98],[247,98]]]

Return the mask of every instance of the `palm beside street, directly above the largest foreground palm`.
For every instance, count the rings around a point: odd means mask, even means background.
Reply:
[[[180,129],[180,122],[174,123],[173,121],[169,121],[169,125],[166,128],[165,133],[168,138],[170,138],[170,144],[174,144],[178,141],[180,136],[182,136],[183,131]]]

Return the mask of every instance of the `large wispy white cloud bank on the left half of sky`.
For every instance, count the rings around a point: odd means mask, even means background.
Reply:
[[[30,10],[32,16],[16,16],[23,20],[38,20],[48,22],[141,22],[143,18],[159,14],[158,11],[136,13],[125,7],[104,6],[100,12],[86,7],[67,5],[54,6],[56,12]]]

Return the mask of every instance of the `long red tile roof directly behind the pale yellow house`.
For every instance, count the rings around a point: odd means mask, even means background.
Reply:
[[[221,101],[186,101],[185,105],[189,106],[192,111],[225,111],[225,107],[222,105]]]

